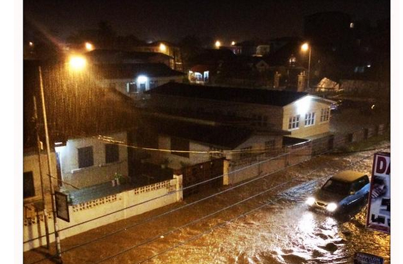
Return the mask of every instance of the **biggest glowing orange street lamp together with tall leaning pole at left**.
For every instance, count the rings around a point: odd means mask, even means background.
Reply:
[[[70,58],[70,69],[83,69],[86,65],[85,58],[79,56],[73,56]],[[42,114],[43,114],[43,126],[45,128],[45,142],[46,142],[46,155],[48,156],[48,173],[49,173],[49,184],[50,184],[50,198],[52,200],[52,214],[53,214],[53,224],[54,224],[54,240],[56,242],[56,254],[59,262],[61,263],[61,245],[59,236],[59,223],[57,223],[56,217],[56,201],[54,198],[54,187],[53,187],[53,177],[51,170],[50,161],[50,142],[49,142],[49,132],[48,132],[48,118],[46,115],[45,107],[45,93],[43,91],[43,78],[42,69],[39,66],[39,87],[41,89],[41,101],[42,101]]]

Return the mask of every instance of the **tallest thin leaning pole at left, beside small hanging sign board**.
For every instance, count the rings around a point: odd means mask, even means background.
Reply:
[[[50,143],[49,143],[49,133],[48,133],[48,119],[46,117],[46,109],[45,109],[45,96],[43,93],[43,80],[42,80],[42,70],[41,66],[39,66],[39,84],[41,88],[41,101],[42,101],[42,111],[43,111],[43,126],[45,126],[45,141],[46,141],[46,154],[48,156],[48,176],[49,176],[49,184],[50,184],[50,198],[52,200],[52,213],[53,213],[53,223],[54,223],[54,239],[56,242],[56,254],[57,260],[59,263],[63,263],[61,260],[61,246],[60,246],[60,237],[59,237],[59,223],[57,223],[56,218],[56,203],[54,201],[54,187],[53,187],[53,179],[52,179],[52,171],[51,171],[51,162],[50,162]]]

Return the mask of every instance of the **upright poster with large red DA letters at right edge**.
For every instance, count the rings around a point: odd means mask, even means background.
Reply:
[[[391,233],[391,153],[375,153],[366,226]]]

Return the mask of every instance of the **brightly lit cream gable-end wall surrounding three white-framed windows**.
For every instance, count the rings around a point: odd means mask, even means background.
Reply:
[[[282,129],[290,131],[291,137],[300,138],[329,132],[330,113],[329,120],[320,122],[321,109],[329,109],[329,104],[317,102],[316,100],[307,100],[307,97],[285,106]],[[313,125],[305,126],[306,113],[315,113],[315,122]],[[300,115],[300,125],[298,129],[289,129],[289,118],[296,115]]]

